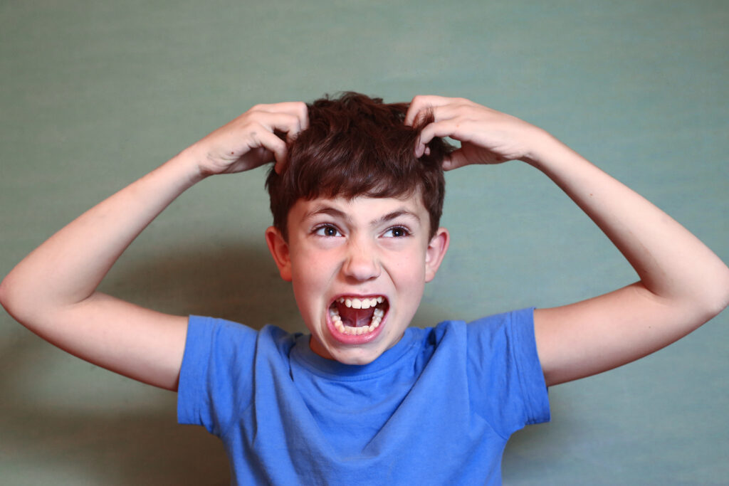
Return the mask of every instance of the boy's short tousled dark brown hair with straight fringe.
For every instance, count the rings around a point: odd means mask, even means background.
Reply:
[[[415,157],[424,117],[405,125],[408,103],[383,103],[359,93],[342,93],[308,104],[309,126],[287,144],[289,160],[280,175],[268,172],[273,225],[288,238],[286,220],[299,199],[397,197],[418,194],[429,213],[430,236],[443,212],[443,157],[453,146],[434,138],[429,154]]]

